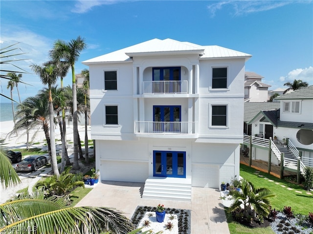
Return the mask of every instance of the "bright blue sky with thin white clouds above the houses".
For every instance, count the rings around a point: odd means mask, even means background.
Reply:
[[[88,48],[75,64],[154,38],[200,45],[219,45],[252,55],[246,71],[265,78],[269,89],[301,79],[313,85],[313,1],[0,1],[0,46],[20,42],[25,52],[15,63],[32,73],[30,64],[48,61],[58,40],[85,38]],[[4,67],[3,67],[4,68]],[[65,85],[71,84],[69,75]],[[35,74],[23,74],[22,100],[44,86]],[[58,84],[60,82],[58,81]],[[10,95],[7,80],[1,93]],[[17,91],[13,98],[18,100]],[[0,102],[9,102],[0,98]]]

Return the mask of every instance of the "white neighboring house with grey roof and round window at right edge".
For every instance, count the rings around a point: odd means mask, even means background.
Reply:
[[[289,139],[305,158],[304,164],[313,167],[313,86],[284,94],[274,101],[279,101],[278,109],[261,110],[247,122],[252,126],[251,135],[267,139],[275,136],[279,144],[288,144],[286,139]],[[257,154],[256,158],[260,159]],[[267,158],[267,152],[263,158]]]

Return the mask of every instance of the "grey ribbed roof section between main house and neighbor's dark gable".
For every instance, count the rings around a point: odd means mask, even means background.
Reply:
[[[280,102],[245,103],[244,122],[250,122],[261,110],[277,110],[279,108]]]

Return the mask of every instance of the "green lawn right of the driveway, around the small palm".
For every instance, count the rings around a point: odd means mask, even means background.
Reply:
[[[303,187],[281,180],[275,176],[269,175],[268,173],[259,172],[255,174],[255,172],[255,169],[240,164],[240,175],[243,178],[252,182],[255,187],[265,187],[275,192],[276,197],[271,199],[272,208],[282,211],[284,206],[290,206],[295,214],[301,213],[304,215],[308,215],[309,212],[313,212],[311,205],[304,205],[312,204],[313,195],[306,194],[307,191],[305,191]],[[260,177],[259,175],[268,178],[268,180],[264,179],[264,177]],[[273,180],[273,182],[270,182],[269,180]],[[275,183],[279,184],[277,185]],[[286,187],[283,188],[281,185]],[[287,188],[291,188],[292,190],[288,190]],[[297,193],[295,191],[301,191],[302,193]],[[227,216],[230,234],[274,234],[271,227],[254,229],[247,228],[233,221],[231,215],[226,211],[225,213]]]

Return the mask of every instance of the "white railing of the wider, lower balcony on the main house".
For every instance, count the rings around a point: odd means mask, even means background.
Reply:
[[[195,138],[198,136],[198,122],[135,121],[134,133],[146,137],[176,135],[182,138]]]

